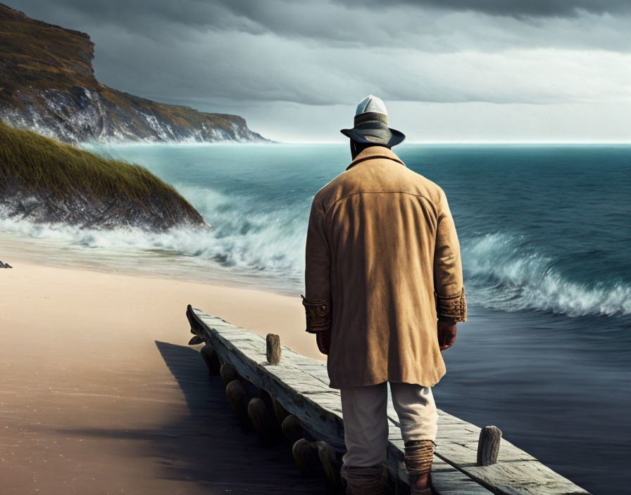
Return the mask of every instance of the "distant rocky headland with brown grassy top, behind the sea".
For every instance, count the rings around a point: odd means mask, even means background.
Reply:
[[[100,84],[82,32],[0,4],[0,118],[60,141],[268,141],[238,115],[156,103]]]

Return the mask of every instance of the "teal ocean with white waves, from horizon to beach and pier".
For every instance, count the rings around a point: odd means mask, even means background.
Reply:
[[[344,172],[348,146],[85,146],[144,165],[213,229],[98,231],[0,216],[0,253],[19,245],[46,264],[256,287],[300,304],[311,199]],[[498,426],[594,494],[628,491],[631,146],[394,151],[444,189],[461,243],[468,322],[444,353],[439,407]]]

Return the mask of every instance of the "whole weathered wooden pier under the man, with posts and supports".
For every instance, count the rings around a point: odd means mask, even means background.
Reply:
[[[292,439],[301,471],[321,463],[330,491],[339,492],[344,421],[339,391],[328,386],[325,363],[280,345],[277,335],[265,339],[190,306],[187,318],[194,333],[191,343],[206,343],[201,354],[211,372],[221,374],[237,416],[251,420],[263,444],[270,435],[284,433]],[[392,493],[408,493],[404,442],[392,401],[387,414],[388,487]],[[497,428],[481,430],[444,411],[438,415],[432,482],[439,495],[588,494],[501,438]]]

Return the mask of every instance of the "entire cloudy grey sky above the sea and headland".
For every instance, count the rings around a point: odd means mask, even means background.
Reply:
[[[4,0],[87,32],[116,89],[344,141],[380,96],[408,142],[631,141],[628,0]]]

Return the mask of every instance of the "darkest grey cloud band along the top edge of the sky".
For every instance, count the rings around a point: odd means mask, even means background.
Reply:
[[[8,0],[8,4],[27,15],[86,32],[109,26],[151,39],[182,39],[213,31],[273,34],[325,46],[395,46],[432,52],[516,46],[631,49],[626,18],[622,26],[593,18],[630,13],[628,0]],[[568,30],[564,24],[568,22],[575,29]],[[599,25],[608,32],[594,33]]]

